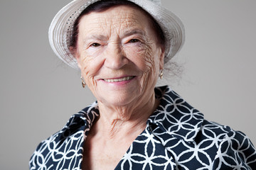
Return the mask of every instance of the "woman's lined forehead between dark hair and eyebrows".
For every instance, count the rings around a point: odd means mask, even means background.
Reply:
[[[114,6],[102,12],[91,12],[80,19],[80,29],[150,28],[150,19],[144,11],[132,6]]]

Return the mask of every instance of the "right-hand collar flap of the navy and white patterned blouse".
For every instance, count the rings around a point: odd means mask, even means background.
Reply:
[[[159,127],[161,132],[186,142],[193,142],[201,130],[203,114],[190,106],[169,86],[156,87],[155,94],[160,98],[160,104],[149,117],[148,124]]]

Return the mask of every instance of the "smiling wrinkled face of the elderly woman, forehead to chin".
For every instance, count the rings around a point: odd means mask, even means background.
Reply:
[[[127,106],[153,94],[164,48],[148,16],[137,8],[116,6],[80,19],[75,57],[82,77],[107,106]]]

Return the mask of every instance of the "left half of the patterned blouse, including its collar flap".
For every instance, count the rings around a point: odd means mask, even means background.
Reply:
[[[92,103],[72,115],[62,130],[38,145],[31,156],[30,169],[69,169],[70,167],[77,169],[80,167],[82,142],[97,115],[97,103]]]

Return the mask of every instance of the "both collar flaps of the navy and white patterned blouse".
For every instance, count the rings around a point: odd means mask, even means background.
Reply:
[[[169,86],[156,87],[154,91],[156,98],[160,99],[160,104],[147,120],[147,125],[153,125],[152,131],[159,127],[161,132],[186,142],[193,142],[201,130],[203,114],[190,106]],[[99,115],[97,101],[95,101],[73,115],[64,129],[68,130],[69,134],[77,131],[78,128],[84,129],[85,135],[87,135],[93,121]]]

